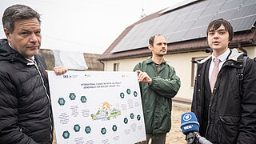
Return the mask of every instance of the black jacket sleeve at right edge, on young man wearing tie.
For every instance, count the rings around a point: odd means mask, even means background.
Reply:
[[[256,62],[247,59],[242,83],[242,118],[239,125],[238,142],[254,144],[256,142]]]

